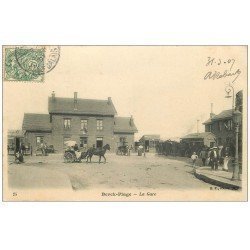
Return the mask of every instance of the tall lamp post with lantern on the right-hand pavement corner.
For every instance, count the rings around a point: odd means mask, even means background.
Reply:
[[[233,112],[233,122],[235,124],[235,160],[234,160],[234,172],[232,176],[232,181],[240,180],[240,170],[239,170],[239,127],[241,123],[241,112],[236,110]]]

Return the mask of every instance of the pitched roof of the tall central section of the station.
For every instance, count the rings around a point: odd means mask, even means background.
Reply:
[[[74,109],[74,98],[49,97],[49,113],[115,115],[116,109],[110,100],[77,99]]]

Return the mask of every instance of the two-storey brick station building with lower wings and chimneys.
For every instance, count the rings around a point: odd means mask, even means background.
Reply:
[[[22,130],[33,149],[46,143],[56,152],[62,152],[69,140],[76,141],[80,148],[109,144],[115,152],[122,140],[134,145],[138,132],[132,116],[117,116],[110,97],[80,99],[77,92],[73,98],[56,97],[53,92],[48,98],[48,114],[25,113]]]

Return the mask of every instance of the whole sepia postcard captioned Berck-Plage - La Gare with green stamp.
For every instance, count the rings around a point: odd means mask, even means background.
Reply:
[[[3,46],[3,200],[246,201],[247,49]]]

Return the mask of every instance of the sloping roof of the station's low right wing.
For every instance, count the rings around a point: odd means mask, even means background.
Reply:
[[[138,132],[133,119],[130,117],[115,117],[114,132],[117,133],[136,133]]]

